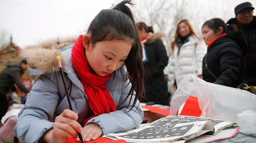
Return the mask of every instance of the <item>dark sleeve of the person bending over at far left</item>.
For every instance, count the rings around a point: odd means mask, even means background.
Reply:
[[[19,89],[21,91],[23,91],[25,93],[30,92],[30,90],[27,89],[25,87],[25,85],[22,83],[22,81],[20,80],[20,77],[21,77],[20,71],[15,70],[15,71],[11,72],[10,75],[11,75],[13,82],[17,85],[17,87],[19,87]]]

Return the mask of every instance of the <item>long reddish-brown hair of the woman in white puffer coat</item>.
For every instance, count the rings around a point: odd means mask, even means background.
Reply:
[[[201,39],[197,36],[197,34],[195,33],[194,29],[192,28],[192,25],[190,24],[190,22],[186,19],[183,19],[181,20],[177,25],[176,25],[176,32],[175,32],[175,35],[174,35],[174,40],[171,42],[171,51],[169,53],[169,55],[171,56],[173,54],[173,51],[174,51],[174,45],[178,45],[178,39],[179,39],[179,36],[180,36],[180,33],[179,33],[179,26],[180,24],[184,22],[185,24],[188,25],[189,27],[189,35],[194,35],[198,40],[201,41]]]

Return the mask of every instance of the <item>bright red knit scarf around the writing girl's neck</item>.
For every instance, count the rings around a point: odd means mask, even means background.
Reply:
[[[83,126],[87,121],[95,116],[103,113],[109,113],[117,110],[115,102],[108,92],[108,88],[104,85],[111,74],[106,76],[98,76],[87,62],[83,47],[83,35],[78,37],[71,52],[72,65],[80,82],[83,85],[85,94],[89,100],[89,106],[94,112],[94,115],[83,121]]]

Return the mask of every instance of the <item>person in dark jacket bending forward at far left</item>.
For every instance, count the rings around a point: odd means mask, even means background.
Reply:
[[[13,89],[14,83],[19,89],[25,93],[30,92],[20,80],[24,71],[28,69],[26,60],[21,62],[11,62],[7,64],[7,67],[0,74],[0,119],[6,114],[9,104],[6,98],[6,94]]]

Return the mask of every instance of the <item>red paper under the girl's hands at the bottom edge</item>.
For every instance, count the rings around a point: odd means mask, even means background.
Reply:
[[[72,139],[67,139],[65,141],[65,143],[81,143],[81,142],[80,141],[76,141],[76,138],[72,138]],[[87,141],[85,143],[128,143],[128,142],[126,142],[123,139],[112,140],[112,139],[100,137],[98,139]]]

